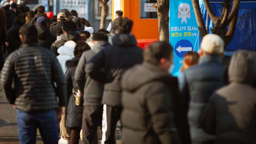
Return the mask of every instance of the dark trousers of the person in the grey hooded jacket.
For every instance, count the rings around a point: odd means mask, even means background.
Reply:
[[[103,106],[84,106],[82,144],[98,144],[97,122],[102,120],[102,112]]]

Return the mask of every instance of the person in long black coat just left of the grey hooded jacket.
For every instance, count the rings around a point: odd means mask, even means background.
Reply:
[[[86,50],[90,50],[90,46],[86,44],[86,42],[82,40],[78,40],[76,42],[76,47],[74,49],[74,56],[72,60],[66,61],[66,82],[67,82],[67,93],[68,96],[68,106],[66,108],[66,122],[65,126],[67,132],[70,136],[70,143],[69,144],[78,144],[79,142],[82,143],[80,140],[80,130],[82,127],[82,116],[83,116],[83,97],[80,99],[80,104],[77,106],[75,101],[76,98],[74,97],[74,91],[78,91],[78,87],[75,81],[75,70],[78,65],[79,59],[82,56],[83,52]],[[98,143],[97,143],[98,144]]]

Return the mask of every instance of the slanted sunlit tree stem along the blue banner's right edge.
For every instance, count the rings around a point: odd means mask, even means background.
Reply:
[[[204,19],[200,10],[200,5],[198,0],[192,0],[194,13],[196,15],[196,22],[198,25],[198,29],[201,35],[201,38],[203,38],[207,33],[207,30],[205,28]]]

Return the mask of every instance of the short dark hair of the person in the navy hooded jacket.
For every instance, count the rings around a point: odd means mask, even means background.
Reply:
[[[129,20],[128,18],[118,18],[116,22],[116,29],[121,34],[130,34],[132,30],[132,20]]]

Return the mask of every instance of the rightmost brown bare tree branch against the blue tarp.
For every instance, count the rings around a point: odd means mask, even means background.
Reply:
[[[228,46],[228,44],[231,42],[231,40],[235,35],[237,20],[238,20],[238,11],[236,12],[236,15],[234,16],[233,20],[229,24],[228,32],[224,38],[224,42],[225,42],[224,48]]]

